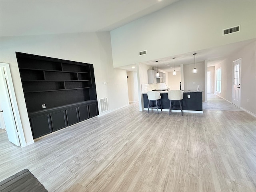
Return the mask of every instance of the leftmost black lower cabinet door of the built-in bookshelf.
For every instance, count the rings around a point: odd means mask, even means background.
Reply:
[[[34,139],[52,132],[49,114],[31,117],[30,122]]]

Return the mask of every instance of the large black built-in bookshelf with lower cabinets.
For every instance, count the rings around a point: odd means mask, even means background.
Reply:
[[[98,115],[92,64],[20,52],[16,57],[33,138]]]

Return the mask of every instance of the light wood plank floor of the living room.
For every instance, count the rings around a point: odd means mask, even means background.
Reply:
[[[256,118],[147,114],[138,104],[18,148],[1,134],[0,180],[28,168],[49,192],[255,192]]]

